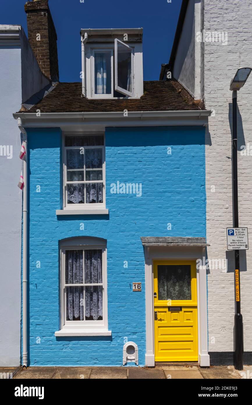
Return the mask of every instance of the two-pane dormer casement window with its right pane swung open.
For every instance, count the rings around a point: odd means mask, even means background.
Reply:
[[[114,48],[93,48],[93,97],[133,97],[134,49],[119,39]]]

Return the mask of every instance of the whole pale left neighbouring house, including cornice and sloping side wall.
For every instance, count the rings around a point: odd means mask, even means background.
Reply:
[[[11,367],[20,364],[22,221],[21,134],[13,113],[49,80],[21,26],[0,25],[0,61],[0,367]]]

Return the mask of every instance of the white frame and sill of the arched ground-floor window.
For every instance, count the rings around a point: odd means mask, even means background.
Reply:
[[[76,238],[73,238],[76,239]],[[72,245],[61,245],[60,249],[60,330],[55,332],[55,336],[110,336],[111,331],[108,331],[108,294],[107,294],[107,248],[106,245],[100,244],[93,244],[89,245],[88,239],[92,240],[97,238],[87,238],[87,244],[84,243],[76,243]],[[102,320],[100,321],[67,321],[66,320],[66,286],[68,284],[65,283],[66,281],[66,251],[67,250],[85,250],[90,249],[101,249],[102,250],[102,286],[103,286],[103,294],[102,294],[102,307],[103,307],[103,314]],[[85,262],[83,261],[83,272]],[[74,286],[83,286],[90,287],[93,285],[101,285],[100,283],[96,284],[87,284],[84,283],[85,279],[83,279],[83,284],[74,284]],[[72,285],[72,284],[71,284]],[[85,305],[85,293],[84,293],[84,305]],[[84,307],[84,318],[85,318],[85,307]]]

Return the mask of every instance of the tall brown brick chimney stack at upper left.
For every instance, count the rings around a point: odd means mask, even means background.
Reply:
[[[59,80],[57,34],[48,0],[33,0],[25,4],[28,39],[40,69],[52,81]]]

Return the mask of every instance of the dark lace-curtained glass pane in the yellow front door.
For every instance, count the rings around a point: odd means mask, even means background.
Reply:
[[[191,300],[191,266],[158,265],[159,300]]]

